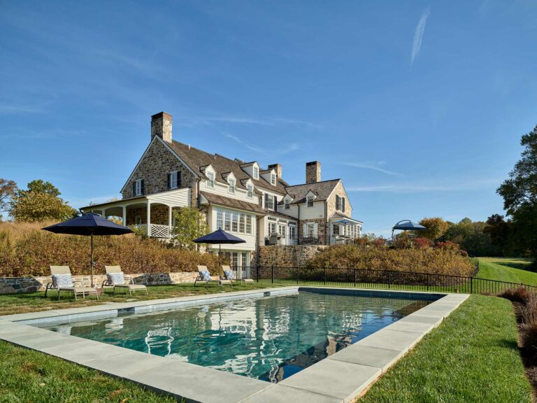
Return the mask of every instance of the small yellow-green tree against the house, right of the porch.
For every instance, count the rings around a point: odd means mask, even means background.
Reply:
[[[174,214],[176,224],[171,229],[171,238],[180,248],[194,250],[194,239],[207,234],[208,226],[199,210],[192,207],[180,207]]]

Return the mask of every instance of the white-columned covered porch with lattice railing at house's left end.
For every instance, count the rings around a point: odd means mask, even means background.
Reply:
[[[173,209],[190,206],[190,190],[183,188],[93,204],[83,207],[84,213],[98,213],[104,218],[116,218],[122,225],[143,229],[147,236],[169,239],[173,227]]]

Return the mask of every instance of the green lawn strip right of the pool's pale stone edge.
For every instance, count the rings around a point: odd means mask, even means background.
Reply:
[[[357,402],[530,403],[510,302],[471,295]]]

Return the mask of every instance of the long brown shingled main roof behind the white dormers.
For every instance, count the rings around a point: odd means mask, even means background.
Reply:
[[[177,153],[181,160],[185,161],[192,171],[199,173],[199,176],[202,178],[206,178],[202,168],[210,164],[217,173],[215,178],[217,182],[227,183],[224,181],[224,178],[222,178],[222,174],[229,174],[230,172],[233,172],[235,178],[237,179],[238,188],[246,189],[245,185],[243,184],[243,180],[250,178],[255,186],[259,186],[260,188],[265,188],[267,190],[273,190],[285,195],[285,187],[288,186],[288,184],[287,182],[283,181],[282,178],[277,178],[275,186],[265,181],[262,176],[259,176],[259,179],[254,179],[243,171],[241,166],[244,167],[244,163],[241,160],[230,160],[229,158],[223,157],[219,154],[209,154],[203,150],[190,147],[187,144],[180,143],[179,141],[175,140],[172,143],[168,143],[168,145]]]

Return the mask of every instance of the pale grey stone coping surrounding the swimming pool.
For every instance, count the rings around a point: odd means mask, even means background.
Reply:
[[[440,295],[425,306],[381,330],[329,355],[279,383],[268,383],[217,369],[170,360],[99,341],[82,339],[33,325],[110,318],[120,313],[145,313],[245,297],[285,295],[303,290],[345,290],[375,294]],[[111,376],[134,381],[159,393],[187,402],[351,402],[405,355],[425,334],[468,298],[467,294],[371,290],[361,288],[290,287],[195,295],[147,301],[121,302],[0,316],[0,339],[41,351]]]

